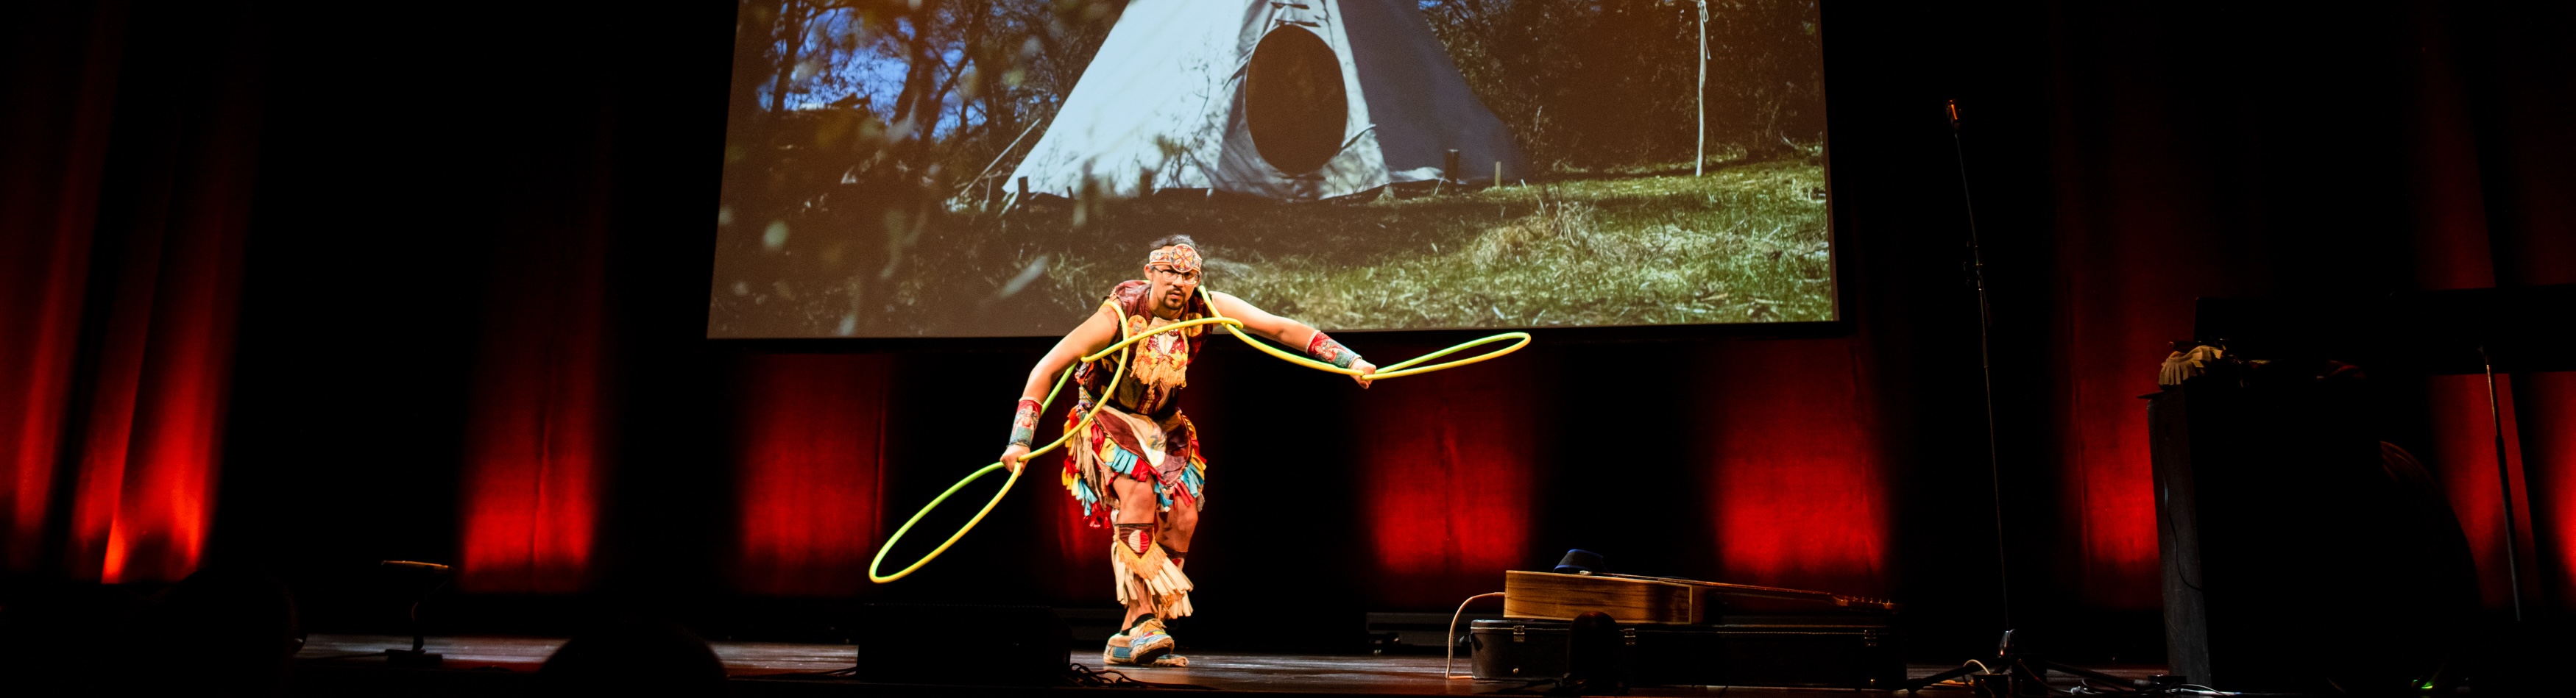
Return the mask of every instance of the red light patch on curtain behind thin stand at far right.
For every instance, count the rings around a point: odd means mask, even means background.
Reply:
[[[2522,549],[2522,600],[2532,603],[2532,492],[2522,479],[2522,438],[2514,428],[2514,376],[2496,376],[2496,407],[2504,412],[2504,456],[2514,482],[2514,541]],[[2512,605],[2504,564],[2504,492],[2496,482],[2496,422],[2486,402],[2486,376],[2432,376],[2432,466],[2442,479],[2468,551],[2478,561],[2478,598],[2488,608]]]

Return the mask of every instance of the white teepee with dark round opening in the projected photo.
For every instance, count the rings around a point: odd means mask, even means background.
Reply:
[[[1005,188],[1319,201],[1497,170],[1520,149],[1412,0],[1133,0]]]

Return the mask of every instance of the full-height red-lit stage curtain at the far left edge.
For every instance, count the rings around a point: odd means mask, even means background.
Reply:
[[[10,428],[23,435],[10,448],[8,559],[44,564],[31,559],[41,533],[23,523],[52,515],[46,500],[70,466],[64,569],[103,582],[180,580],[214,520],[258,170],[260,33],[222,8],[129,23],[121,5],[46,13],[28,31],[64,33],[13,54],[10,100],[28,100],[10,113],[10,139],[70,139],[5,160],[5,185],[26,185],[0,214],[5,250],[28,258],[8,260],[0,312],[31,330],[0,340],[10,361],[0,371],[23,376],[8,384]],[[129,67],[124,46],[188,59]],[[39,70],[54,82],[28,75]],[[116,90],[118,113],[103,90]],[[95,332],[88,384],[64,355],[82,317]]]

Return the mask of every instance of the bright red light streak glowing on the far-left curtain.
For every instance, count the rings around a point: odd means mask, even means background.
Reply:
[[[173,582],[206,551],[258,162],[245,67],[196,75],[216,95],[162,116],[170,149],[137,162],[72,492],[77,577]]]

